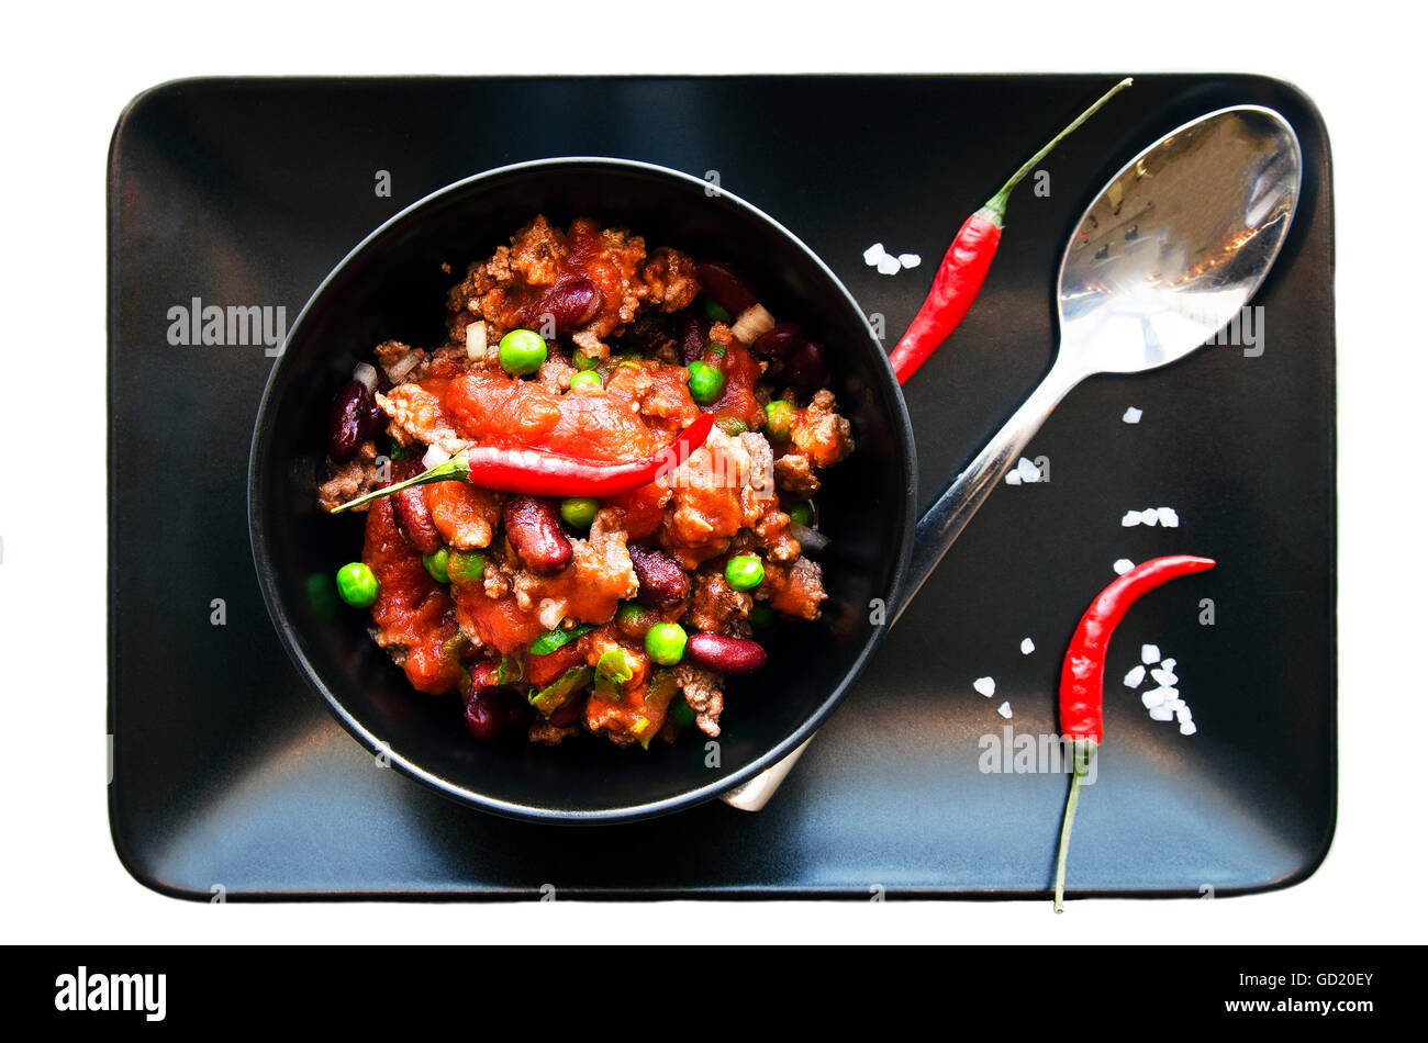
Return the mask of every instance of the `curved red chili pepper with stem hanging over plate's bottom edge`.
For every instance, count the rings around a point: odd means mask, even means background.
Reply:
[[[1192,558],[1177,554],[1168,558],[1152,558],[1117,576],[1101,591],[1081,616],[1071,638],[1071,648],[1061,663],[1061,731],[1071,739],[1071,792],[1067,796],[1067,810],[1061,820],[1061,843],[1057,850],[1057,887],[1052,907],[1061,912],[1061,897],[1065,890],[1067,849],[1071,842],[1071,823],[1081,796],[1081,779],[1091,766],[1091,759],[1101,745],[1102,721],[1101,702],[1105,688],[1105,652],[1111,634],[1125,618],[1125,611],[1142,594],[1154,591],[1175,576],[1202,572],[1214,568],[1210,558]]]

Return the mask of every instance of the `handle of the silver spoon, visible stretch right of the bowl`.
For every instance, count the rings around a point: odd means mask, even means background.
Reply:
[[[967,522],[987,502],[987,497],[1001,479],[1017,465],[1022,451],[1041,425],[1057,408],[1067,392],[1081,382],[1084,374],[1057,361],[1051,371],[1037,385],[1027,401],[1011,414],[1001,429],[982,447],[951,484],[942,489],[927,514],[917,522],[917,536],[912,541],[912,558],[908,562],[902,588],[890,614],[890,625],[902,615],[922,584],[932,575],[937,565],[947,556],[952,541],[962,534]]]

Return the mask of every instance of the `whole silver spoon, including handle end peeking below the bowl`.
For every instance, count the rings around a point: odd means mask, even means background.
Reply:
[[[1234,106],[1172,130],[1111,178],[1061,257],[1055,361],[918,522],[890,625],[1071,388],[1184,358],[1240,315],[1284,245],[1301,175],[1288,121]],[[723,800],[761,809],[807,746]]]

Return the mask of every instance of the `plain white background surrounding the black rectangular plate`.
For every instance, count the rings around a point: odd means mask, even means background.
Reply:
[[[256,0],[7,9],[0,940],[633,937],[627,915],[608,905],[183,903],[129,877],[106,815],[104,161],[120,110],[143,88],[184,76],[557,70],[1267,73],[1318,103],[1334,150],[1341,782],[1322,869],[1272,895],[1081,902],[1060,917],[1040,902],[677,903],[640,916],[638,940],[1425,940],[1428,167],[1422,24],[1399,14],[1412,6],[878,0],[800,9],[784,13],[770,0],[431,10],[350,0],[321,14]],[[527,21],[536,11],[538,24]],[[887,161],[895,173],[917,157]]]

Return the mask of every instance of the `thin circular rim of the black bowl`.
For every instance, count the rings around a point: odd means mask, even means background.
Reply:
[[[268,371],[267,380],[263,385],[263,395],[258,400],[258,408],[253,419],[253,439],[248,447],[248,474],[247,474],[247,512],[248,512],[248,549],[253,555],[253,565],[257,572],[258,588],[263,592],[263,604],[267,609],[268,619],[273,622],[273,628],[277,632],[278,641],[287,651],[288,658],[297,668],[297,672],[307,682],[307,686],[313,689],[321,701],[327,705],[327,709],[333,713],[337,722],[354,738],[367,752],[378,756],[386,756],[390,766],[396,768],[401,775],[416,779],[417,782],[431,786],[438,793],[457,800],[458,803],[493,812],[504,818],[520,819],[526,822],[554,822],[554,823],[613,823],[613,822],[633,822],[638,819],[650,819],[660,815],[668,815],[671,812],[681,810],[684,808],[691,808],[707,800],[713,800],[721,793],[727,793],[731,789],[737,789],[744,785],[760,772],[773,766],[778,760],[783,760],[787,755],[793,753],[800,745],[803,745],[813,733],[823,725],[824,721],[833,713],[843,698],[847,695],[848,689],[858,681],[863,672],[867,669],[873,656],[881,648],[884,638],[891,626],[885,622],[883,625],[874,626],[868,638],[864,641],[863,648],[858,651],[857,658],[853,665],[844,672],[843,678],[833,688],[831,692],[818,703],[813,713],[805,716],[800,725],[783,741],[774,746],[764,751],[760,756],[750,760],[747,765],[738,770],[721,775],[711,782],[697,786],[694,789],[685,789],[674,796],[665,796],[655,800],[628,803],[618,808],[607,808],[600,810],[558,810],[551,808],[541,808],[528,803],[518,803],[513,800],[503,800],[493,798],[487,793],[470,789],[467,786],[457,785],[441,775],[423,768],[407,756],[403,756],[397,751],[391,749],[383,739],[374,735],[361,721],[358,721],[343,703],[327,682],[318,675],[317,669],[308,661],[307,655],[300,648],[298,642],[294,639],[294,628],[287,619],[287,614],[283,608],[281,598],[277,591],[274,569],[268,558],[268,544],[267,534],[263,525],[258,524],[261,517],[258,505],[264,502],[267,495],[267,481],[264,478],[264,469],[260,464],[268,455],[268,435],[270,424],[267,424],[268,411],[273,404],[273,397],[276,392],[276,385],[278,377],[284,371],[284,365],[288,358],[287,348],[296,338],[301,334],[304,324],[313,311],[314,305],[327,292],[331,284],[346,273],[347,267],[357,260],[364,251],[381,240],[388,231],[391,231],[398,224],[408,221],[414,214],[424,210],[426,207],[434,205],[440,200],[448,198],[451,195],[458,195],[474,188],[480,188],[483,184],[490,181],[497,181],[500,178],[511,177],[516,174],[538,170],[555,170],[555,168],[570,168],[571,173],[581,167],[585,168],[601,168],[614,170],[624,173],[637,173],[644,175],[651,175],[664,180],[673,180],[683,183],[687,187],[698,187],[701,191],[710,188],[708,181],[687,174],[680,170],[673,170],[670,167],[663,167],[654,163],[645,163],[641,160],[627,160],[601,156],[561,156],[561,157],[545,157],[537,160],[526,160],[521,163],[511,163],[501,167],[493,167],[490,170],[471,174],[461,180],[453,181],[433,193],[421,197],[420,200],[408,204],[398,213],[393,214],[390,218],[377,225],[373,231],[361,238],[357,245],[347,251],[347,254],[327,273],[327,275],[317,284],[313,292],[308,295],[303,308],[298,311],[297,318],[291,322],[287,330],[287,335],[283,340],[283,348],[273,362]],[[871,327],[867,322],[867,312],[863,311],[857,300],[843,284],[834,271],[814,253],[801,238],[798,238],[793,231],[784,227],[780,221],[770,217],[767,213],[748,203],[743,197],[728,191],[723,185],[718,185],[713,197],[727,200],[738,211],[754,218],[758,223],[768,225],[768,228],[777,235],[783,237],[790,245],[800,251],[804,258],[813,265],[813,270],[824,280],[825,285],[835,291],[841,298],[841,304],[845,308],[853,310],[861,317],[863,328],[867,331],[868,341],[873,347],[873,355],[877,360],[874,370],[883,378],[885,390],[891,390],[891,401],[894,404],[894,417],[888,418],[888,428],[892,434],[894,441],[898,447],[898,462],[902,469],[902,489],[904,489],[904,518],[902,531],[898,534],[898,545],[892,549],[894,554],[894,569],[892,569],[892,585],[885,595],[885,604],[891,608],[901,602],[902,586],[907,578],[908,562],[912,554],[912,539],[914,526],[917,519],[917,447],[912,438],[912,424],[908,417],[907,402],[902,398],[901,387],[892,374],[892,365],[888,362],[887,352],[881,342],[874,335]]]

